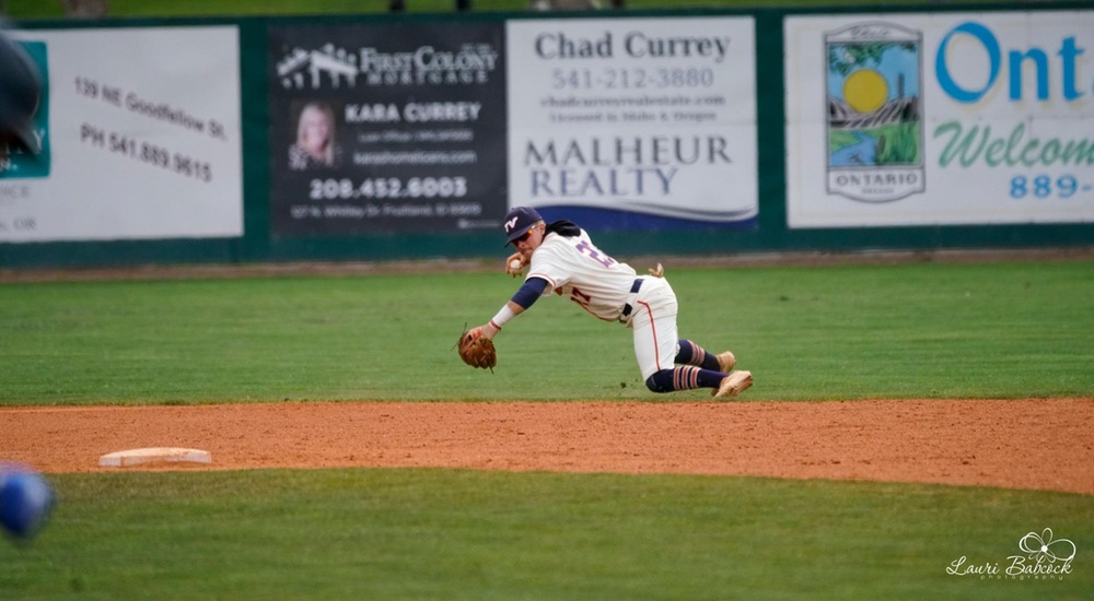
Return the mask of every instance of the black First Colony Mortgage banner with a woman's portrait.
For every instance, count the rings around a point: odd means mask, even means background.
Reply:
[[[500,23],[271,27],[272,233],[500,224],[503,36]]]

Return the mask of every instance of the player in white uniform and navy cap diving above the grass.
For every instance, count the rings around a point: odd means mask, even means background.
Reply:
[[[510,319],[554,292],[598,319],[630,328],[642,378],[654,392],[710,388],[717,398],[732,398],[752,386],[750,373],[733,372],[733,353],[714,355],[677,339],[676,293],[661,266],[650,276],[638,276],[593,245],[578,225],[566,220],[547,224],[529,207],[511,210],[504,226],[507,244],[516,247],[505,272],[515,278],[528,267],[528,275],[498,315],[469,332],[473,339],[492,340]]]

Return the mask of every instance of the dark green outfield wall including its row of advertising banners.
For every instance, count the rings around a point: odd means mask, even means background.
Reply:
[[[16,37],[48,90],[3,268],[494,257],[514,204],[621,256],[1094,244],[1094,3]],[[327,162],[293,149],[310,105]]]

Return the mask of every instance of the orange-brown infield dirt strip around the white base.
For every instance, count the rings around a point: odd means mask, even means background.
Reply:
[[[1094,399],[833,402],[290,402],[0,409],[7,459],[135,469],[430,467],[918,482],[1094,495]]]

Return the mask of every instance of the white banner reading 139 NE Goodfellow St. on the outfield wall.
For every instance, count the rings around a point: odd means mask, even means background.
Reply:
[[[234,26],[20,31],[37,152],[0,163],[0,243],[243,235]]]

